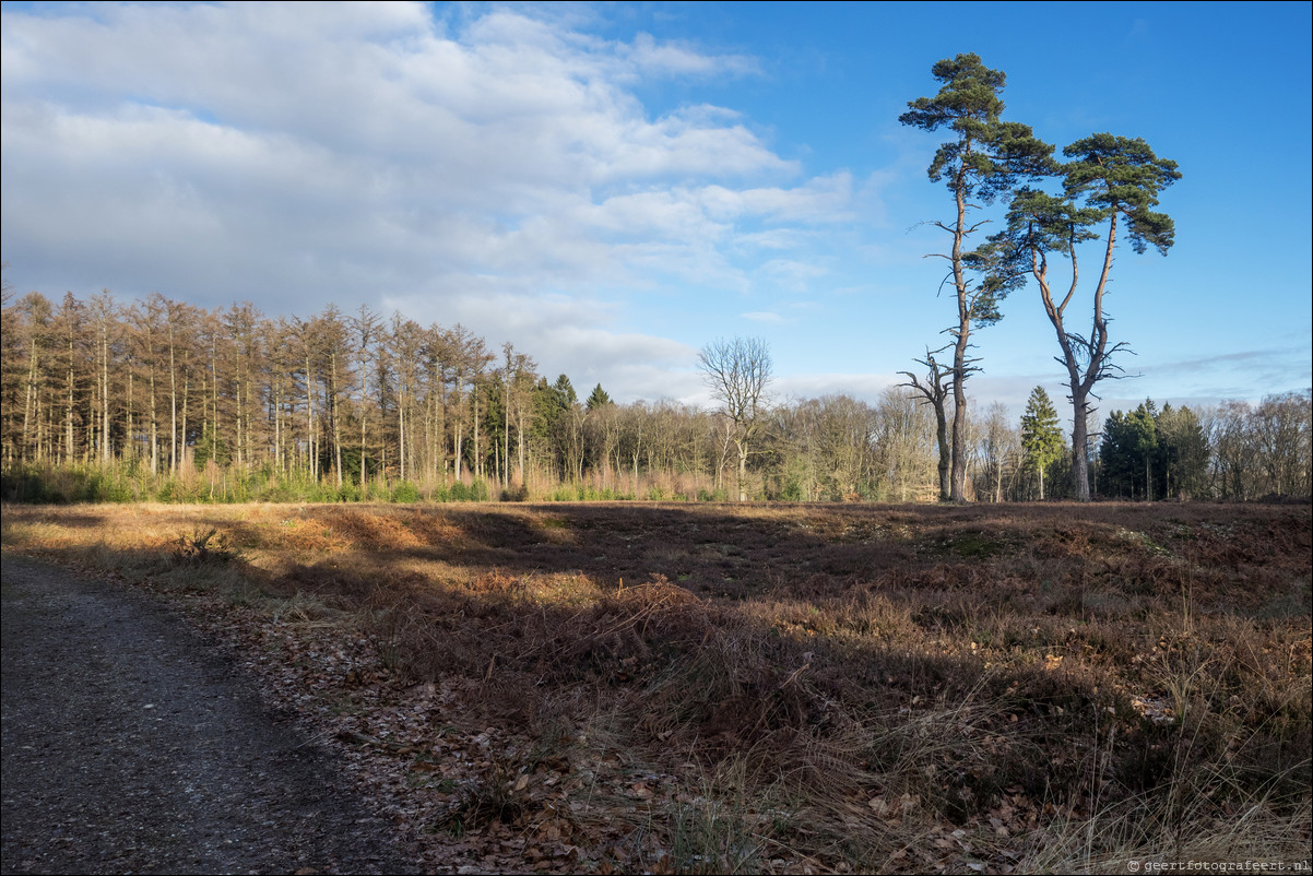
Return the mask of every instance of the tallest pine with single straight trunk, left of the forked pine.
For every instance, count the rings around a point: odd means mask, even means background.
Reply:
[[[909,101],[898,117],[903,125],[926,131],[948,129],[952,139],[940,144],[927,169],[932,183],[944,183],[953,196],[952,222],[934,225],[952,235],[952,250],[936,253],[949,261],[956,290],[957,322],[947,334],[953,339],[953,427],[951,498],[965,500],[966,483],[966,376],[973,370],[966,349],[974,326],[999,319],[999,299],[1006,286],[981,282],[974,273],[979,259],[966,250],[968,238],[982,225],[969,211],[1011,190],[1019,179],[1048,172],[1053,147],[1036,139],[1028,125],[1004,122],[1006,75],[981,63],[979,55],[961,54],[937,62],[931,74],[941,83],[934,97]]]

